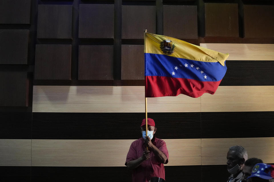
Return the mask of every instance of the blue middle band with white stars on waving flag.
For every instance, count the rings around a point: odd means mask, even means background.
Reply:
[[[227,70],[227,67],[219,62],[194,61],[152,53],[145,53],[145,64],[145,76],[168,76],[199,81],[219,81]]]

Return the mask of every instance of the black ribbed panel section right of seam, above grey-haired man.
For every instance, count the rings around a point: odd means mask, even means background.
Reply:
[[[274,112],[202,112],[202,138],[273,137]]]

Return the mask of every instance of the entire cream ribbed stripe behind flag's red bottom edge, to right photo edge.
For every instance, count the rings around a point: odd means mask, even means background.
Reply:
[[[148,98],[148,112],[274,111],[274,86],[219,86],[200,98]],[[33,86],[33,112],[144,112],[144,86]]]

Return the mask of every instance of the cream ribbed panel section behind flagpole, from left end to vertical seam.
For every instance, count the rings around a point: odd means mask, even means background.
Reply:
[[[144,86],[33,86],[33,112],[144,112]],[[200,112],[200,98],[148,98],[148,112]]]

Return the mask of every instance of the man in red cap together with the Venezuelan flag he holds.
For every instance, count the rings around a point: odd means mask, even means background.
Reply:
[[[144,33],[144,53],[146,118],[147,97],[185,94],[197,98],[204,93],[214,94],[226,73],[225,59],[229,56],[147,32]],[[153,119],[148,118],[147,123],[144,119],[141,127],[143,138],[132,142],[125,163],[133,169],[132,181],[148,182],[154,176],[165,179],[166,143],[153,138],[156,132]]]

